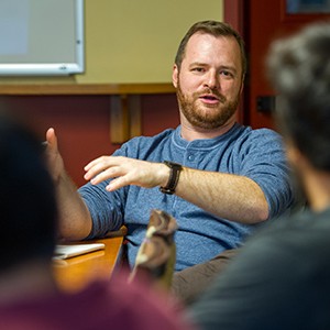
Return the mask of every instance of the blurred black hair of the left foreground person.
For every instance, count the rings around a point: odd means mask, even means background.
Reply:
[[[53,255],[57,210],[43,153],[30,129],[0,113],[0,272]]]

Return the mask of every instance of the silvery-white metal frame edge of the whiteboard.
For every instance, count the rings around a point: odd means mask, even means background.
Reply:
[[[0,76],[63,76],[85,72],[84,0],[75,0],[76,58],[74,63],[0,63]]]

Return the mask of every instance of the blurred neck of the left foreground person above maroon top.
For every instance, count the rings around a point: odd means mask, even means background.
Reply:
[[[33,262],[0,273],[0,306],[44,297],[57,290],[52,266]]]

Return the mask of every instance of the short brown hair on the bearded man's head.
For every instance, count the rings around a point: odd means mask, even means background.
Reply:
[[[245,48],[244,48],[244,42],[243,42],[241,35],[230,24],[223,23],[223,22],[218,22],[218,21],[197,22],[188,30],[188,32],[182,40],[179,47],[177,50],[176,56],[175,56],[175,64],[178,67],[178,69],[180,69],[183,59],[185,57],[187,43],[195,33],[211,34],[216,37],[218,37],[218,36],[234,37],[240,46],[241,63],[242,63],[242,77],[244,77],[244,75],[246,73],[246,54],[245,54]]]

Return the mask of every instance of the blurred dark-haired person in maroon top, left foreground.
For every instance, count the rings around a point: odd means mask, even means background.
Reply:
[[[43,158],[41,141],[0,114],[0,329],[188,329],[162,295],[125,276],[61,292],[55,190]]]

